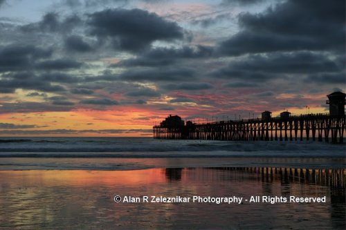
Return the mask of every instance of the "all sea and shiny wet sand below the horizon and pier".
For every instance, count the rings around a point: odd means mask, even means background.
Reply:
[[[1,137],[0,229],[345,229],[345,153],[306,140]],[[162,202],[176,197],[206,202]]]

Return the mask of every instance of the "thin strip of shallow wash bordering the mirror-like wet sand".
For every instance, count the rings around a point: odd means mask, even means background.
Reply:
[[[282,167],[345,169],[346,157],[145,157],[145,158],[30,158],[3,157],[0,171],[178,169],[212,167]]]

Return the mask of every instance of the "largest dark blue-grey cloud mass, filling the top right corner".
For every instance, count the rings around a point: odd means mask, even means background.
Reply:
[[[344,50],[345,1],[289,0],[239,16],[242,30],[219,46],[225,55],[294,50]]]

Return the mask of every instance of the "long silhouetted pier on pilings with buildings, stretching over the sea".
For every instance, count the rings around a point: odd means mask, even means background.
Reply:
[[[226,141],[297,141],[343,143],[345,133],[345,93],[327,95],[329,113],[293,116],[288,111],[271,117],[264,111],[261,118],[226,120],[196,124],[170,115],[153,127],[156,139],[226,140]]]

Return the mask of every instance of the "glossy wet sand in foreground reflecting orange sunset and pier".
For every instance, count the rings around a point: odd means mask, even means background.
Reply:
[[[0,229],[345,229],[345,169],[0,171]],[[114,195],[323,197],[325,203],[115,203]]]

